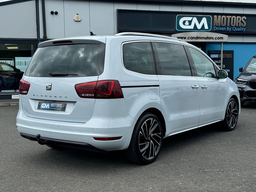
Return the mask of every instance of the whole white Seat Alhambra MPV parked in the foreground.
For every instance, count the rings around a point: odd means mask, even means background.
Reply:
[[[149,164],[163,139],[240,113],[236,84],[200,49],[143,33],[38,45],[20,81],[17,130],[51,148],[126,150]]]

